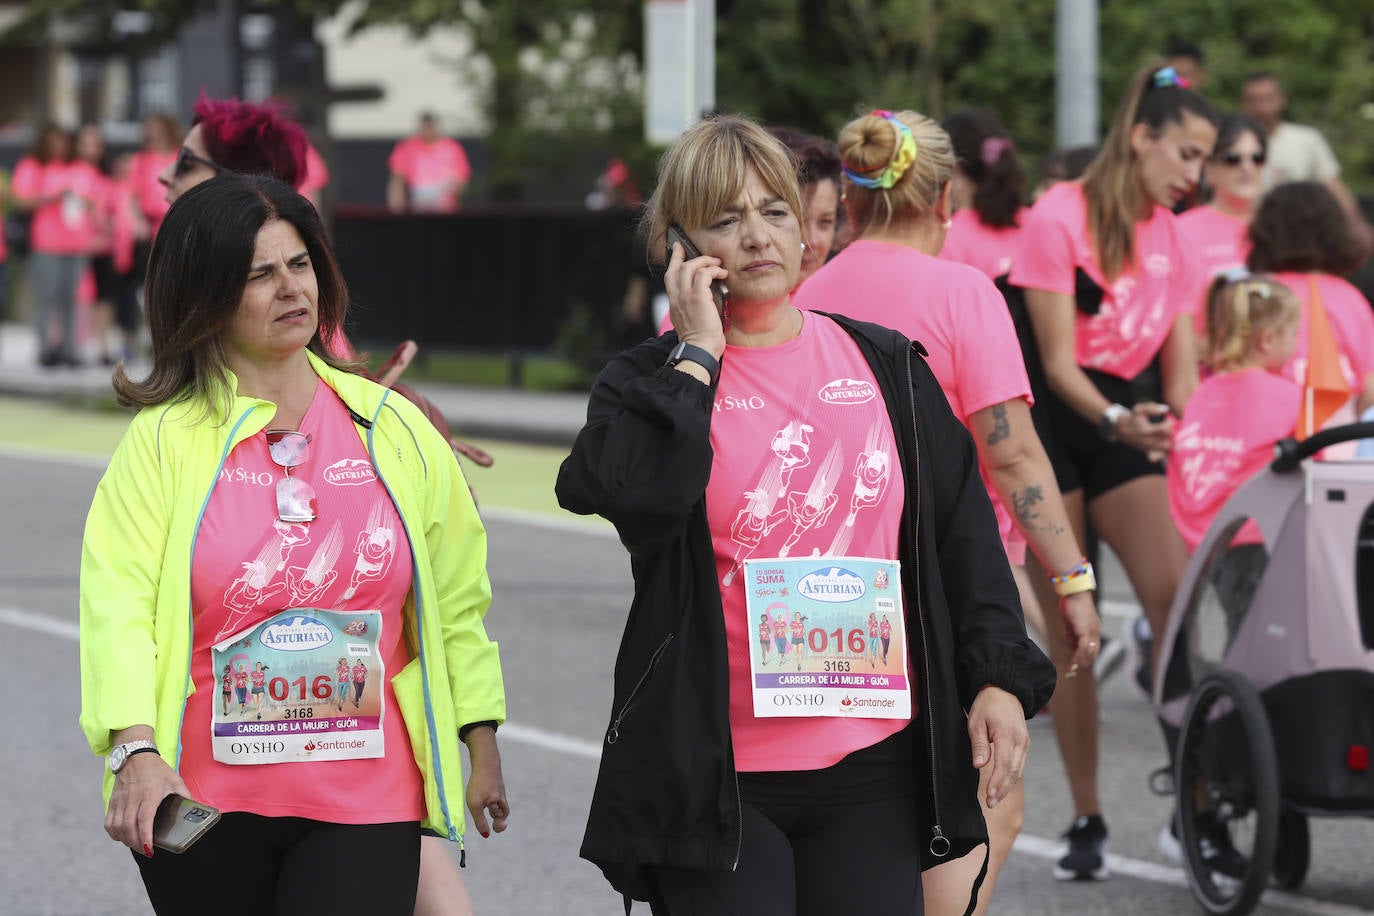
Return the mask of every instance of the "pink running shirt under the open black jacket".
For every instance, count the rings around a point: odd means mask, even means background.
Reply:
[[[833,766],[907,725],[754,718],[743,560],[896,558],[905,503],[892,422],[868,364],[844,328],[819,314],[804,317],[801,334],[786,343],[725,347],[710,422],[706,518],[725,612],[735,768],[742,772]],[[911,626],[915,611],[910,603],[905,610]],[[789,625],[774,621],[774,636],[787,637]]]

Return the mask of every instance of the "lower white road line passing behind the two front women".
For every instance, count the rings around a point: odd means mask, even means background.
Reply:
[[[48,614],[23,611],[16,607],[0,607],[0,623],[10,623],[12,626],[37,630],[40,633],[48,633],[51,636],[59,636],[69,640],[77,639],[76,623],[60,621]],[[502,725],[500,733],[506,740],[519,744],[530,744],[533,747],[541,747],[544,750],[567,754],[569,757],[580,757],[583,759],[600,759],[600,744],[598,742],[589,742],[584,737],[551,732],[533,725],[521,725],[519,722],[506,722]],[[1014,850],[1035,858],[1058,861],[1058,858],[1063,856],[1063,842],[1022,834],[1017,838]],[[1187,879],[1179,868],[1160,865],[1158,862],[1147,862],[1139,858],[1128,858],[1125,856],[1112,856],[1110,864],[1112,871],[1117,875],[1138,878],[1157,884],[1187,887]],[[1282,906],[1298,913],[1311,913],[1312,916],[1374,916],[1374,911],[1370,909],[1312,900],[1309,897],[1300,897],[1297,894],[1287,894],[1275,890],[1264,891],[1263,901],[1272,906]]]

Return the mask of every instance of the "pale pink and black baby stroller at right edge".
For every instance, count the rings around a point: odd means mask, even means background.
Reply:
[[[1154,707],[1208,912],[1249,913],[1271,878],[1301,884],[1309,816],[1374,816],[1374,461],[1309,460],[1370,435],[1356,423],[1281,442],[1208,529],[1169,611]],[[1249,522],[1263,544],[1232,545]]]

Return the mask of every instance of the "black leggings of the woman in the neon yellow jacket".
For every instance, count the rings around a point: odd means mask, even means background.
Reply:
[[[158,916],[408,915],[420,828],[231,812],[180,856],[133,858]]]

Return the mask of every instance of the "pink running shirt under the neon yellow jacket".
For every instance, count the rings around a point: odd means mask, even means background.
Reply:
[[[191,570],[195,692],[181,726],[181,777],[195,798],[221,810],[335,824],[420,820],[422,777],[390,687],[409,661],[401,637],[401,604],[411,591],[409,541],[348,408],[324,382],[316,386],[301,431],[312,435],[309,456],[291,477],[315,488],[319,518],[306,525],[278,520],[275,488],[282,468],[258,433],[229,453],[201,520]],[[216,761],[210,647],[297,607],[381,610],[386,755],[257,766]],[[245,652],[251,654],[251,647]],[[334,661],[317,674],[333,677]],[[365,689],[378,689],[374,680],[379,678],[370,672]]]

